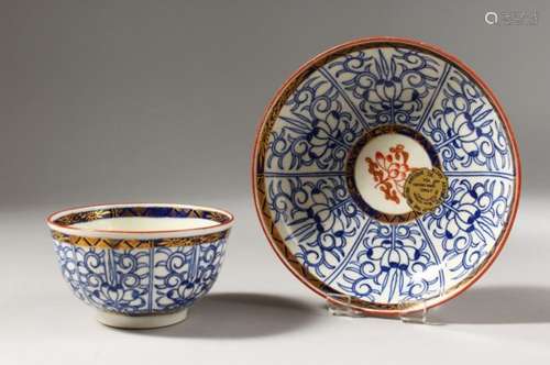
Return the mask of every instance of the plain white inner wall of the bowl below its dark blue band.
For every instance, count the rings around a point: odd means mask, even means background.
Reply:
[[[218,222],[202,218],[153,218],[153,217],[119,217],[99,219],[90,222],[72,224],[80,230],[103,231],[174,231],[212,226]]]

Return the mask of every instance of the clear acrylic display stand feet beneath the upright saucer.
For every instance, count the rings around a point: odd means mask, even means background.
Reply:
[[[344,294],[329,294],[327,296],[327,310],[331,316],[349,318],[375,317],[362,312],[351,306],[352,298]],[[428,307],[424,300],[402,301],[397,305],[399,318],[404,323],[436,324],[428,321]]]

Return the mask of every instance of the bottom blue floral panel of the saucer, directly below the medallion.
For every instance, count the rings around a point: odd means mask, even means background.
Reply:
[[[339,287],[370,301],[437,295],[444,285],[437,253],[417,224],[369,226]]]

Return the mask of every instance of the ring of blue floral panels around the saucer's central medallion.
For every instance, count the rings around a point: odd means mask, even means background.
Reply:
[[[399,124],[433,146],[449,191],[435,211],[383,223],[358,207],[345,164],[363,134]],[[333,290],[372,303],[432,298],[495,250],[516,184],[509,136],[481,88],[415,47],[340,54],[300,80],[270,126],[265,204],[285,246]]]

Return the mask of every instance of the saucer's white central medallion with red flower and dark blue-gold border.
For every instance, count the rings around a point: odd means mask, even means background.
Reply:
[[[406,126],[386,125],[370,131],[353,147],[348,162],[348,185],[370,215],[398,223],[441,203],[447,178],[440,167],[437,153],[422,135]],[[408,196],[411,191],[408,178],[418,172],[424,172],[424,176],[435,172],[430,176],[444,180],[432,190],[424,191],[425,196],[433,196],[431,204],[415,203],[418,198]]]

